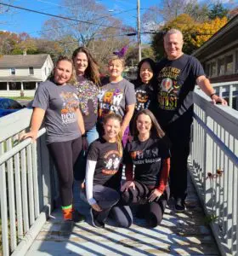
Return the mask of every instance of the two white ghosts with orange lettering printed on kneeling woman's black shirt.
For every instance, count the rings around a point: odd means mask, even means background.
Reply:
[[[107,152],[104,156],[105,167],[102,169],[102,173],[105,175],[113,175],[118,172],[122,157],[116,150]]]

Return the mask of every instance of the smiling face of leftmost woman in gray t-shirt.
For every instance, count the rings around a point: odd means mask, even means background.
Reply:
[[[59,61],[54,68],[54,82],[56,84],[66,84],[72,75],[72,64],[70,61]]]

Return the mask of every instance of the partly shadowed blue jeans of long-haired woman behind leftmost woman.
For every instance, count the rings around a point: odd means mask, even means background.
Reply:
[[[96,129],[96,125],[91,130],[86,131],[88,146],[99,138],[99,133]],[[86,174],[86,151],[82,149],[77,158],[77,162],[74,166],[74,178],[77,181],[83,181]]]

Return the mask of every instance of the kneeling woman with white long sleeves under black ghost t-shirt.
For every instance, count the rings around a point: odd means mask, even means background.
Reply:
[[[122,118],[116,113],[105,115],[105,135],[88,149],[86,166],[86,195],[91,205],[92,223],[104,227],[109,213],[115,216],[119,226],[132,224],[129,207],[118,207],[122,179]]]

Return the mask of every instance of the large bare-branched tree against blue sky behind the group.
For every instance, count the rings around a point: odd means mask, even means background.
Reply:
[[[78,45],[88,46],[92,40],[103,36],[107,28],[111,28],[117,34],[125,32],[122,22],[109,15],[105,6],[95,0],[63,0],[62,5],[63,16],[74,20],[47,20],[44,24],[43,38],[50,36],[53,40],[59,41],[61,38],[71,37]]]

